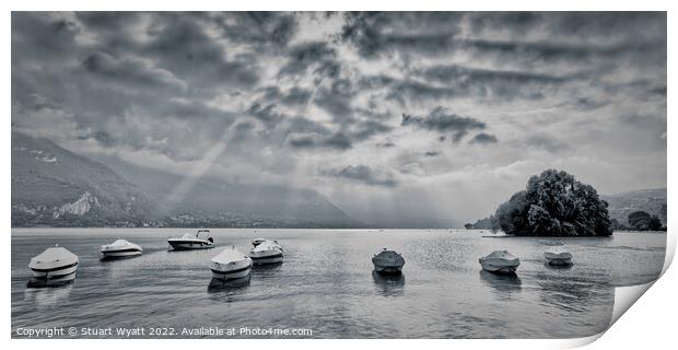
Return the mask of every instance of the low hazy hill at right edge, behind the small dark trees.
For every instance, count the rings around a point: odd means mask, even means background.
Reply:
[[[629,223],[629,213],[645,211],[657,215],[666,224],[666,188],[636,189],[617,195],[604,195],[611,219]]]

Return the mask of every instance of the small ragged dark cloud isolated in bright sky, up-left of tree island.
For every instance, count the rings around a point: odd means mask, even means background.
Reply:
[[[440,133],[449,132],[455,142],[464,138],[470,130],[483,130],[486,128],[486,124],[480,120],[448,113],[443,107],[436,107],[425,117],[404,114],[400,125]]]

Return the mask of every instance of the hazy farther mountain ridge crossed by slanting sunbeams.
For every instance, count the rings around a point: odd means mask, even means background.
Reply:
[[[348,228],[359,222],[322,194],[285,185],[236,184],[213,176],[190,178],[130,164],[102,162],[133,180],[154,214],[174,226]],[[211,223],[211,224],[210,224]]]

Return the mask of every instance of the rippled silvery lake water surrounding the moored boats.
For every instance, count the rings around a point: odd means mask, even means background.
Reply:
[[[658,277],[666,245],[659,233],[560,240],[574,265],[556,269],[543,264],[550,248],[543,240],[482,237],[478,231],[214,229],[215,248],[168,252],[166,238],[183,232],[13,229],[12,337],[20,337],[19,327],[168,327],[177,334],[307,328],[312,338],[585,337],[607,328],[616,285]],[[284,262],[255,268],[235,285],[210,287],[210,258],[231,245],[247,253],[258,236],[277,238]],[[143,255],[100,261],[100,246],[116,238],[142,245]],[[28,260],[56,243],[80,257],[75,281],[26,288]],[[401,278],[373,275],[371,258],[383,247],[405,257]],[[517,277],[481,271],[478,258],[494,249],[521,258]]]

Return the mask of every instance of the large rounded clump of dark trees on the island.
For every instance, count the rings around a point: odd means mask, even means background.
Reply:
[[[547,170],[525,190],[499,206],[493,230],[516,236],[609,236],[607,202],[591,185],[562,171]]]

